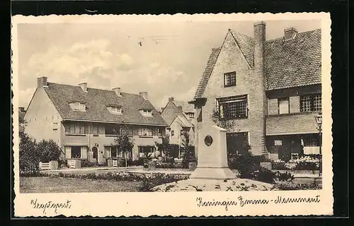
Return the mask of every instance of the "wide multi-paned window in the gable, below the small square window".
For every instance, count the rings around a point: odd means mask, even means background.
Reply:
[[[247,118],[247,96],[219,98],[217,109],[221,119]]]

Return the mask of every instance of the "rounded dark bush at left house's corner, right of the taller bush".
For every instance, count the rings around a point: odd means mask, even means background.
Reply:
[[[58,161],[62,155],[62,149],[53,140],[42,140],[38,143],[38,151],[40,152],[41,162]]]

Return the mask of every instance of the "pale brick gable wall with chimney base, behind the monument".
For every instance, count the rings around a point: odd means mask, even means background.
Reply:
[[[224,73],[230,71],[236,71],[236,86],[224,88]],[[203,94],[207,102],[202,108],[202,121],[212,122],[215,98],[234,95],[248,95],[249,116],[235,119],[229,132],[249,132],[251,152],[261,155],[265,150],[264,115],[267,109],[263,69],[249,69],[236,42],[228,34]]]

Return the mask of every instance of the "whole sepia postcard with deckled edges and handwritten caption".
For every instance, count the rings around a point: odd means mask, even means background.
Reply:
[[[330,23],[13,17],[15,213],[331,214]]]

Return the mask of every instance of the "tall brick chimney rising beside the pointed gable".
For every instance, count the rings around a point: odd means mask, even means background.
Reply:
[[[265,69],[265,23],[254,23],[254,67]]]

